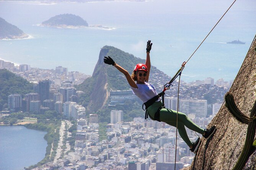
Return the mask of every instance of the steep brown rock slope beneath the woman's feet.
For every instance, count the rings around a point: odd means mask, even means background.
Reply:
[[[256,38],[254,37],[253,43],[229,91],[234,96],[238,109],[248,116],[256,100],[255,48]],[[248,125],[238,121],[228,111],[225,103],[212,119],[209,127],[212,125],[217,126],[214,136],[208,141],[202,140],[194,161],[190,167],[184,170],[231,170],[235,166],[245,145]],[[251,153],[243,168],[244,170],[256,169],[255,147],[252,147]]]

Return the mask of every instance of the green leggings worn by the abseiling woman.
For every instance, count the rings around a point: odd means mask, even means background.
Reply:
[[[147,111],[150,117],[152,118],[155,117],[155,113],[157,112],[158,108],[161,105],[162,105],[161,101],[158,101],[148,107]],[[161,109],[160,111],[160,121],[165,122],[174,127],[176,127],[176,119],[177,119],[176,116],[177,116],[177,111],[173,111],[171,109]],[[192,142],[189,140],[185,126],[202,135],[204,134],[204,129],[202,129],[201,127],[197,126],[194,122],[192,122],[186,114],[178,112],[179,135],[186,142],[186,144],[188,144],[188,146],[192,146]]]

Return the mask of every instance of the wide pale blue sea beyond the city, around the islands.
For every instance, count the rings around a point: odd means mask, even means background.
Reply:
[[[0,58],[31,67],[92,74],[100,48],[111,45],[145,59],[152,40],[151,62],[172,76],[194,52],[233,0],[147,0],[145,2],[41,3],[0,2],[0,17],[18,26],[32,39],[0,40]],[[237,0],[183,71],[186,82],[207,77],[235,78],[256,34],[255,0]],[[71,13],[90,26],[57,29],[39,27],[52,16]],[[239,39],[245,45],[227,44]],[[118,63],[118,61],[116,61]]]

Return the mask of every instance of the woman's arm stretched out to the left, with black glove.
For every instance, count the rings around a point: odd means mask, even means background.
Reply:
[[[104,63],[109,64],[109,65],[113,65],[114,67],[116,67],[117,70],[119,70],[122,74],[124,74],[126,76],[126,79],[127,79],[128,83],[131,87],[138,88],[136,83],[134,82],[134,80],[130,76],[129,72],[126,69],[124,69],[123,67],[116,64],[116,62],[114,62],[114,60],[110,56],[104,57]]]

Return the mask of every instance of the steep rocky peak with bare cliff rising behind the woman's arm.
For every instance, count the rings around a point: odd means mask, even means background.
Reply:
[[[99,53],[99,59],[93,71],[92,77],[86,79],[76,88],[86,93],[86,99],[83,106],[88,107],[88,111],[96,112],[107,104],[110,90],[130,90],[125,76],[119,72],[115,67],[104,64],[104,56],[111,56],[116,63],[132,73],[134,66],[138,63],[145,63],[144,59],[140,59],[119,50],[115,47],[104,46]],[[151,66],[150,79],[158,79],[159,75],[170,79],[168,75],[159,71],[156,67]],[[157,81],[156,81],[157,82]],[[154,84],[152,81],[152,84]],[[161,87],[162,88],[162,87]]]

